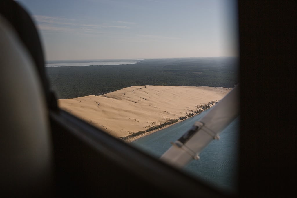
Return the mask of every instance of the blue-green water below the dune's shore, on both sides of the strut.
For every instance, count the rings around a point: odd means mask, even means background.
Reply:
[[[209,109],[130,144],[159,158],[170,148],[170,142],[177,140],[208,111]],[[238,132],[239,118],[236,118],[221,132],[220,140],[212,141],[200,153],[200,160],[193,160],[183,170],[221,190],[236,192]]]

